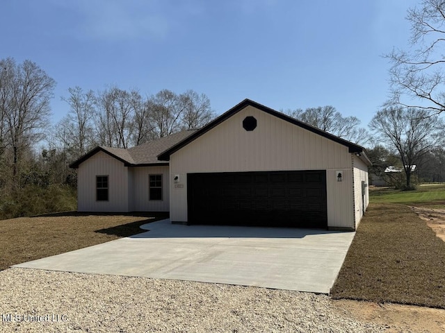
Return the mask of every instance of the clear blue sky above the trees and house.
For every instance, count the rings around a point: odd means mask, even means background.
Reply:
[[[384,53],[406,48],[414,0],[1,1],[0,58],[36,62],[60,96],[79,85],[193,89],[216,114],[333,105],[367,126],[388,93]]]

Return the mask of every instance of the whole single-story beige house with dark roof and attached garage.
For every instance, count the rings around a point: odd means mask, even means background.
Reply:
[[[355,230],[362,146],[245,99],[199,130],[73,162],[79,212],[170,212],[172,223]]]

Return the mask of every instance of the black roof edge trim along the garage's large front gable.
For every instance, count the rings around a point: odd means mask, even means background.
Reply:
[[[350,142],[348,140],[341,139],[341,137],[337,137],[335,135],[327,133],[324,130],[320,130],[319,128],[316,128],[314,126],[309,125],[308,123],[304,123],[304,122],[299,121],[299,120],[297,120],[295,118],[289,117],[286,114],[283,114],[281,112],[275,111],[275,110],[273,110],[271,108],[268,108],[267,106],[261,105],[261,104],[255,102],[255,101],[250,100],[250,99],[245,99],[241,103],[238,103],[232,109],[230,109],[227,112],[221,114],[220,117],[214,119],[213,121],[208,123],[206,126],[201,128],[200,130],[197,130],[195,133],[193,133],[192,135],[190,135],[186,139],[182,140],[181,142],[178,142],[174,146],[171,146],[166,151],[161,153],[158,156],[158,159],[161,160],[161,161],[169,161],[170,160],[170,155],[172,155],[172,153],[175,153],[175,151],[179,151],[179,149],[181,149],[182,147],[186,146],[187,144],[189,144],[193,140],[197,139],[198,137],[200,137],[204,133],[209,132],[209,130],[211,130],[212,128],[218,126],[220,123],[222,123],[223,121],[225,121],[229,117],[232,117],[234,114],[236,114],[236,112],[239,112],[239,111],[243,110],[244,108],[246,108],[248,106],[252,106],[254,108],[257,108],[257,109],[259,109],[261,111],[264,111],[264,112],[266,112],[268,114],[271,114],[271,115],[273,115],[275,117],[278,117],[278,118],[280,118],[280,119],[282,119],[284,121],[288,121],[289,123],[293,123],[296,126],[304,128],[305,130],[309,130],[312,133],[316,133],[318,135],[321,135],[322,137],[325,137],[325,138],[330,139],[330,140],[332,140],[334,142],[342,144],[343,146],[346,146],[346,147],[349,148],[349,153],[356,153],[357,156],[361,157],[362,160],[364,160],[364,162],[366,162],[367,164],[371,165],[371,161],[369,160],[369,157],[366,155],[366,150],[362,146],[354,144],[353,142]]]

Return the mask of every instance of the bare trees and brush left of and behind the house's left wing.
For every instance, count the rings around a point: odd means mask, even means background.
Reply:
[[[35,62],[0,60],[0,219],[74,210],[70,162],[95,146],[129,148],[211,121],[209,98],[193,90],[143,95],[113,86],[68,89],[69,112],[51,124],[56,81]]]

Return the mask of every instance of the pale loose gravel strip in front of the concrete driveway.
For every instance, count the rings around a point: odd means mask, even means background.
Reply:
[[[9,316],[10,315],[10,316]],[[9,268],[0,332],[385,332],[313,293]],[[392,327],[394,332],[394,327]]]

